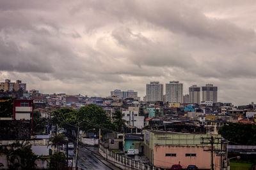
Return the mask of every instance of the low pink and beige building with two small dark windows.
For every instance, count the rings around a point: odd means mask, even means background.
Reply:
[[[199,169],[211,169],[209,144],[202,144],[202,138],[220,139],[221,136],[209,134],[184,134],[178,132],[144,131],[144,153],[154,166],[170,169],[173,164],[186,168],[196,165]],[[214,144],[215,150],[221,150],[220,144]],[[221,157],[213,154],[214,169],[220,169]]]

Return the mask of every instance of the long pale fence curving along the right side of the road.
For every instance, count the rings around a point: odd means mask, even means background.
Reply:
[[[121,169],[143,169],[143,170],[160,170],[160,167],[150,166],[148,164],[143,164],[138,160],[132,160],[129,157],[125,157],[125,155],[120,155],[118,153],[112,152],[108,150],[108,148],[104,148],[104,146],[99,145],[99,153],[104,157],[108,162],[111,162],[116,167],[120,167]]]

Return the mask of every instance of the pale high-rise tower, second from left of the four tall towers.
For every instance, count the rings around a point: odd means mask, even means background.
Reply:
[[[166,101],[169,103],[183,103],[183,83],[170,81],[166,83]]]

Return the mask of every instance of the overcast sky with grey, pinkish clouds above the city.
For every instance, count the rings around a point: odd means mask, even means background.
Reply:
[[[149,81],[214,83],[218,101],[256,96],[256,2],[0,0],[0,81],[109,96]],[[256,102],[256,101],[255,101]]]

